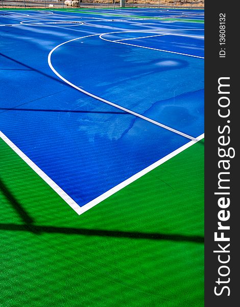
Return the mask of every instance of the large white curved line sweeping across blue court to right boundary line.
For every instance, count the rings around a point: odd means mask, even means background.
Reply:
[[[134,111],[131,111],[130,109],[127,109],[127,108],[125,108],[125,107],[123,107],[123,106],[121,106],[121,105],[115,104],[115,103],[113,103],[113,102],[111,102],[111,101],[108,101],[108,100],[106,100],[106,99],[104,99],[104,98],[101,98],[101,97],[96,96],[96,95],[94,95],[94,94],[91,94],[91,93],[89,93],[89,92],[87,92],[87,91],[85,91],[85,90],[83,90],[83,89],[80,89],[79,86],[77,86],[77,85],[71,83],[70,81],[68,81],[67,79],[65,79],[63,76],[61,76],[61,75],[55,70],[55,68],[53,67],[52,62],[51,62],[51,56],[52,56],[53,52],[54,52],[57,48],[59,48],[60,46],[65,45],[65,44],[68,43],[68,42],[74,41],[74,40],[78,40],[78,39],[86,38],[86,37],[91,37],[91,36],[97,36],[97,35],[103,35],[103,34],[92,34],[92,35],[87,35],[87,36],[82,36],[82,37],[77,37],[77,38],[74,38],[74,39],[70,39],[70,40],[67,40],[67,41],[65,41],[65,42],[60,43],[58,46],[56,46],[54,49],[52,49],[52,50],[50,51],[50,53],[49,53],[49,56],[47,57],[47,62],[49,63],[49,67],[51,68],[51,70],[52,70],[61,80],[63,80],[64,82],[66,82],[66,83],[69,84],[70,86],[73,86],[76,90],[78,90],[78,91],[80,91],[80,92],[82,92],[82,93],[84,93],[84,94],[86,94],[86,95],[88,95],[88,96],[91,96],[91,97],[93,97],[93,98],[95,98],[95,99],[98,99],[98,100],[100,100],[100,101],[103,101],[103,102],[105,102],[105,103],[107,103],[107,104],[110,104],[110,105],[112,105],[112,106],[114,106],[114,107],[117,107],[118,109],[121,109],[122,111],[125,111],[125,112],[127,112],[127,113],[130,113],[130,114],[136,116],[136,117],[139,117],[139,118],[141,118],[141,119],[144,119],[144,120],[146,120],[146,121],[149,121],[149,122],[151,122],[151,123],[153,123],[153,124],[155,124],[155,125],[157,125],[157,126],[160,126],[160,127],[162,127],[162,128],[165,128],[165,129],[167,129],[167,130],[170,130],[170,131],[172,131],[172,132],[174,132],[174,133],[176,133],[176,134],[179,134],[179,135],[181,135],[181,136],[183,136],[183,137],[185,137],[185,138],[187,138],[187,139],[195,140],[194,137],[191,137],[191,136],[189,136],[189,135],[187,135],[187,134],[185,134],[185,133],[183,133],[183,132],[181,132],[181,131],[178,131],[178,130],[176,130],[176,129],[174,129],[174,128],[171,128],[171,127],[169,127],[169,126],[166,126],[166,125],[164,125],[164,124],[161,124],[161,123],[159,123],[159,122],[157,122],[157,121],[155,121],[155,120],[152,120],[152,119],[150,119],[150,118],[148,118],[148,117],[146,117],[146,116],[143,116],[143,115],[138,114],[138,113],[136,113],[136,112],[134,112]]]

